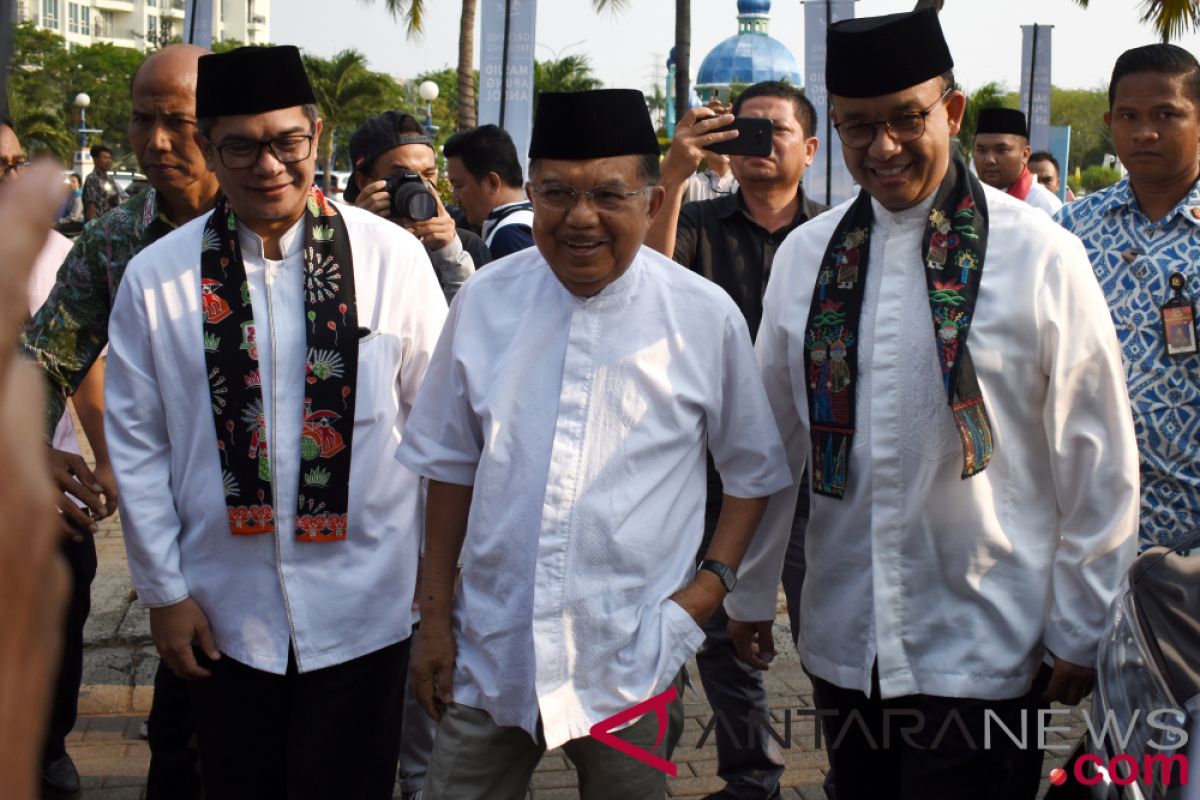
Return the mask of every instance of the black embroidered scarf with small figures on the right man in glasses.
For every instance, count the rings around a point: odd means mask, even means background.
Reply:
[[[829,239],[804,342],[812,491],[836,499],[846,493],[854,437],[858,331],[872,218],[871,197],[862,192]],[[934,197],[922,252],[942,381],[962,439],[964,479],[983,471],[992,453],[991,422],[967,350],[986,249],[983,186],[954,154]]]

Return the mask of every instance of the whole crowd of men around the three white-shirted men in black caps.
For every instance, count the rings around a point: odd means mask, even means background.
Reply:
[[[79,793],[120,509],[151,800],[516,800],[557,747],[586,800],[662,798],[590,732],[664,698],[614,735],[670,759],[692,655],[709,798],[778,798],[780,585],[830,798],[1032,799],[1039,750],[973,742],[1080,703],[1135,554],[1200,522],[1200,62],[1117,60],[1128,175],[1066,205],[1020,112],[968,167],[953,66],[932,11],[836,23],[836,140],[766,82],[665,156],[641,92],[544,92],[528,174],[496,126],[445,143],[452,205],[398,110],[322,194],[294,47],[149,56],[132,197],[100,148],[65,198],[0,125],[0,794]],[[709,150],[738,118],[769,155]]]

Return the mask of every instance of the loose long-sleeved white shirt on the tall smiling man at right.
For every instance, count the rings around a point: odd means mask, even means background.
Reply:
[[[1079,240],[985,188],[988,252],[967,344],[995,455],[961,480],[920,241],[932,198],[874,204],[858,339],[857,429],[842,500],[814,495],[798,649],[805,667],[884,698],[1010,698],[1043,656],[1096,661],[1134,557],[1138,447],[1121,351]],[[756,342],[792,473],[809,461],[804,332],[845,203],[779,248]],[[773,619],[796,488],[772,498],[726,599]]]

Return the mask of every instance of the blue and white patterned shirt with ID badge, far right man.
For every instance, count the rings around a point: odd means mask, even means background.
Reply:
[[[1172,545],[1200,525],[1200,355],[1171,356],[1159,308],[1172,272],[1200,295],[1200,184],[1151,221],[1129,180],[1063,206],[1055,218],[1084,240],[1124,357],[1141,456],[1139,545]]]

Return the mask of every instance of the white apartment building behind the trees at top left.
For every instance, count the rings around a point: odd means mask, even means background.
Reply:
[[[52,30],[68,44],[109,42],[151,49],[182,36],[187,0],[17,0],[17,19]],[[212,38],[270,41],[270,0],[211,0]]]

